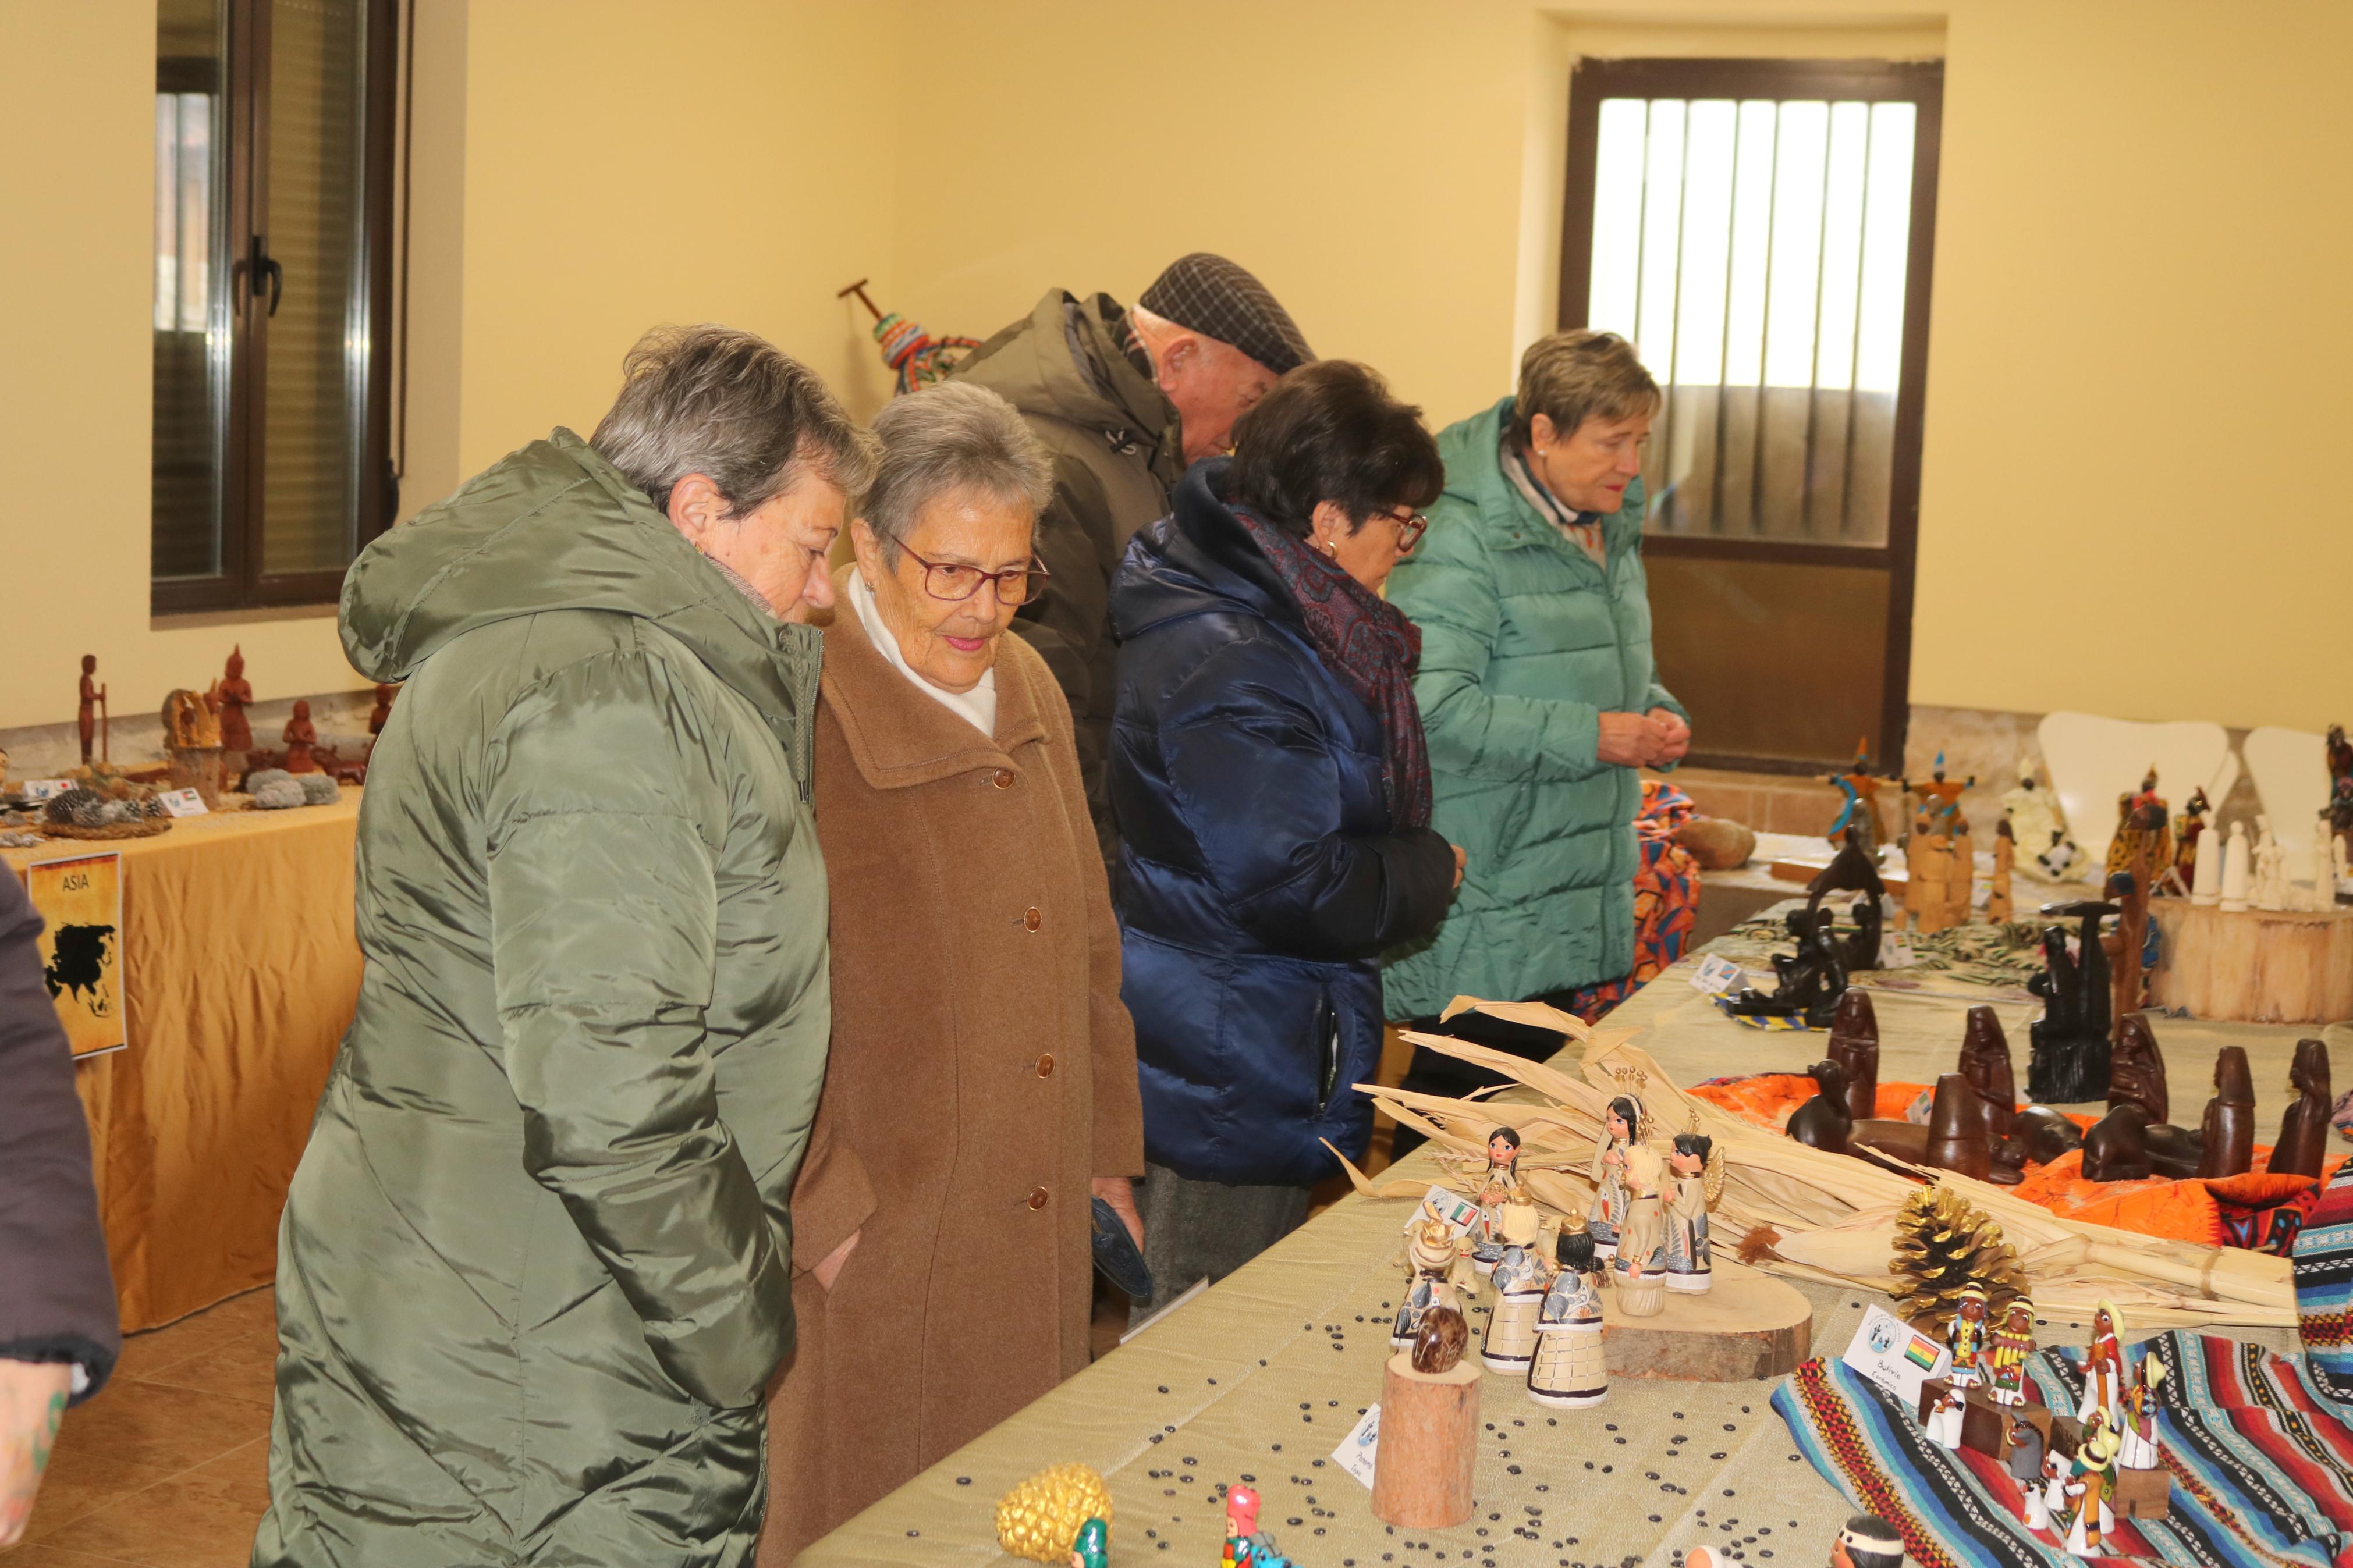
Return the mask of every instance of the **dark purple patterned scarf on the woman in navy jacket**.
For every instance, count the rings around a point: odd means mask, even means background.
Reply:
[[[1372,592],[1339,562],[1318,555],[1294,534],[1235,505],[1259,552],[1292,590],[1308,623],[1308,644],[1325,670],[1339,677],[1381,719],[1381,799],[1402,832],[1431,825],[1431,750],[1421,738],[1414,705],[1414,670],[1421,665],[1421,628],[1395,604]]]

